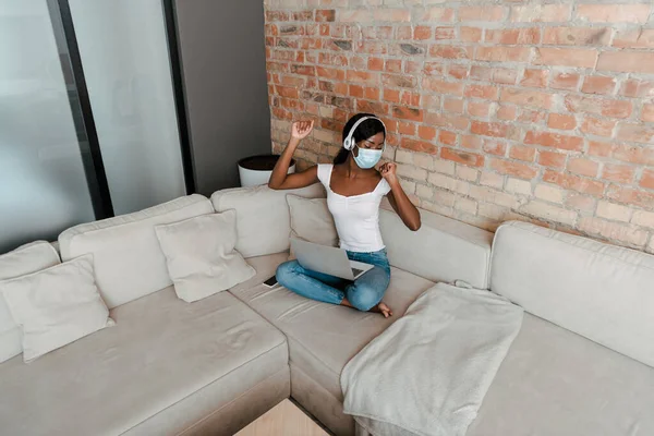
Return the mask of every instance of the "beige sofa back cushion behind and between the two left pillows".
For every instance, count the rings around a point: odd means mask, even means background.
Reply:
[[[172,284],[155,226],[213,214],[202,195],[75,226],[59,235],[62,261],[92,253],[98,289],[109,308]]]

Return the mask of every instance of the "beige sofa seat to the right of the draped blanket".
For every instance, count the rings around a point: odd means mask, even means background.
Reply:
[[[654,370],[524,314],[467,436],[654,435]]]

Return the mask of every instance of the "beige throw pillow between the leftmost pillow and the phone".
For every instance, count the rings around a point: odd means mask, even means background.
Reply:
[[[230,289],[256,274],[234,250],[235,210],[156,226],[155,231],[174,291],[186,302]]]

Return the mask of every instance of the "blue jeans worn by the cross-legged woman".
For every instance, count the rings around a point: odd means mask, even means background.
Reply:
[[[390,282],[390,265],[386,250],[374,253],[347,252],[350,261],[374,265],[354,281],[343,280],[305,269],[298,261],[287,262],[277,268],[277,281],[290,291],[324,303],[340,304],[348,299],[352,306],[367,312],[384,296]]]

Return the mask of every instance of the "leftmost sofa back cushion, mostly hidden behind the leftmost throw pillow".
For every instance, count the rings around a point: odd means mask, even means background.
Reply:
[[[33,242],[0,256],[0,280],[25,276],[59,264],[59,254],[50,243]],[[21,328],[0,294],[0,363],[22,352]]]

